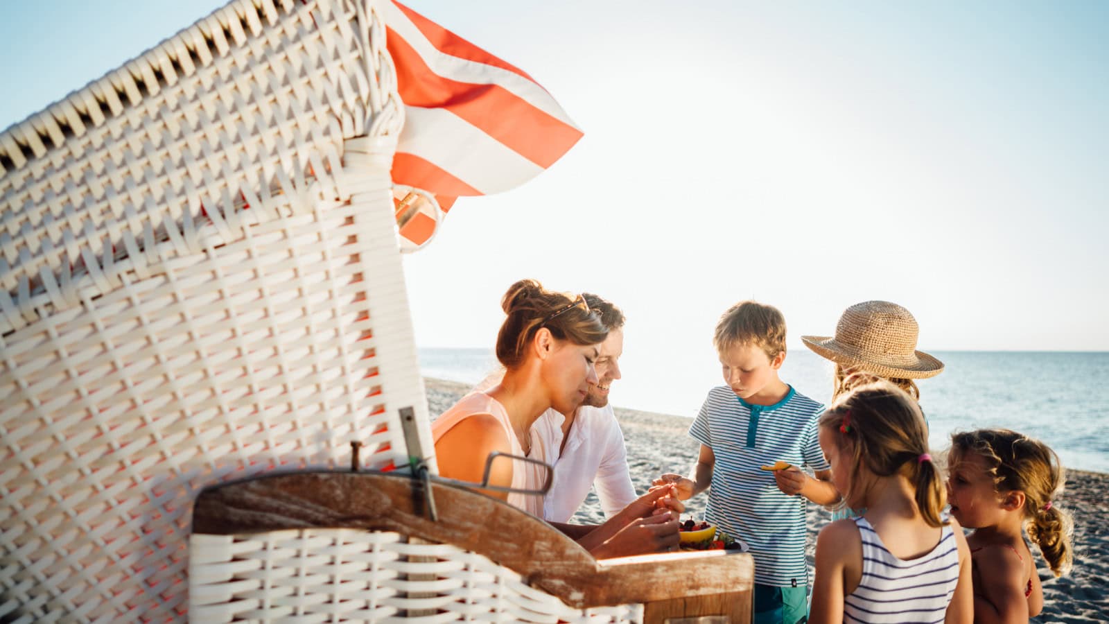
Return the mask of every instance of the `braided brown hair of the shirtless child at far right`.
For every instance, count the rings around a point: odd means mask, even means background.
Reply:
[[[979,429],[952,434],[947,455],[955,465],[968,453],[986,463],[998,494],[1019,490],[1025,493],[1025,533],[1039,546],[1044,560],[1056,576],[1066,574],[1074,563],[1071,537],[1075,523],[1055,499],[1062,494],[1066,471],[1047,444],[1007,429]]]

